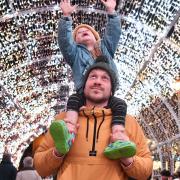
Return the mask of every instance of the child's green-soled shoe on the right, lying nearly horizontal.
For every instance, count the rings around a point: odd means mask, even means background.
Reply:
[[[109,159],[132,157],[136,154],[136,145],[131,141],[116,141],[104,150],[104,155]]]

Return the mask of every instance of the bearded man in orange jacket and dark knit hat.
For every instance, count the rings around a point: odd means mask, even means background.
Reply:
[[[116,86],[116,75],[106,62],[96,62],[87,70],[83,92],[85,107],[79,112],[79,126],[70,151],[64,155],[55,147],[49,131],[35,152],[35,168],[41,176],[57,173],[57,180],[146,180],[152,171],[152,158],[146,138],[136,120],[126,116],[125,129],[111,135],[111,109],[106,108]],[[65,113],[57,116],[63,119]],[[56,132],[58,135],[58,131]],[[59,137],[61,139],[61,137]],[[110,160],[104,155],[109,141],[133,141],[136,155]]]

